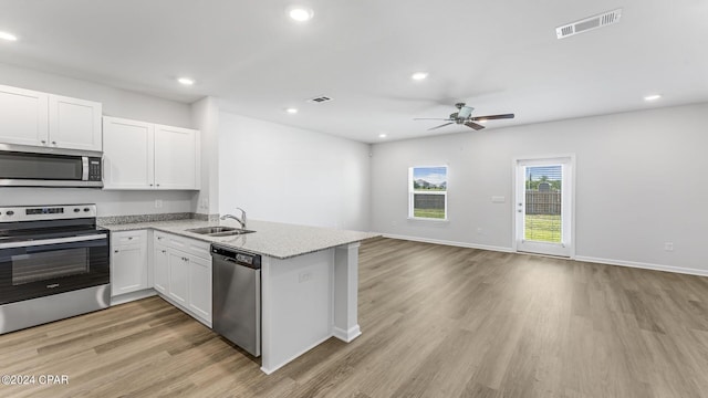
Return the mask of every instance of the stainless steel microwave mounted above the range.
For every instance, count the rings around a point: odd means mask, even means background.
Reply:
[[[101,153],[0,145],[0,187],[103,187]]]

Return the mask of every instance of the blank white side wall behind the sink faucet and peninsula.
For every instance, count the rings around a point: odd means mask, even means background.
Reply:
[[[221,112],[219,212],[369,229],[369,145]]]

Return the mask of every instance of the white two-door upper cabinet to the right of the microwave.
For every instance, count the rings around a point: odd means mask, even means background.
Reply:
[[[103,189],[199,189],[199,132],[105,116]]]

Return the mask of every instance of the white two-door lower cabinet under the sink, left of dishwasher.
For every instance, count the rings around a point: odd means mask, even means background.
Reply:
[[[211,327],[209,243],[155,231],[154,287],[171,304]]]

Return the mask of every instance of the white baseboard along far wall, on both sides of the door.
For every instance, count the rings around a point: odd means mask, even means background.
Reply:
[[[498,251],[498,252],[504,252],[504,253],[516,253],[512,248],[490,247],[490,245],[485,245],[485,244],[475,244],[475,243],[467,243],[467,242],[454,242],[454,241],[446,241],[446,240],[439,240],[439,239],[428,239],[428,238],[418,238],[418,237],[406,237],[406,235],[397,235],[397,234],[391,234],[391,233],[382,233],[382,235],[384,238],[402,239],[402,240],[408,240],[408,241],[414,241],[414,242],[436,243],[436,244],[452,245],[452,247],[458,247],[458,248],[470,248],[470,249],[491,250],[491,251]],[[521,253],[521,254],[523,254],[523,253]],[[585,256],[585,255],[577,255],[577,254],[574,258],[569,259],[569,261],[583,261],[583,262],[592,262],[592,263],[605,264],[605,265],[620,265],[620,266],[629,266],[629,268],[644,269],[644,270],[674,272],[674,273],[683,273],[683,274],[698,275],[698,276],[708,276],[708,270],[687,269],[687,268],[681,268],[681,266],[653,264],[653,263],[645,263],[645,262],[637,262],[637,261],[602,259],[602,258]]]

